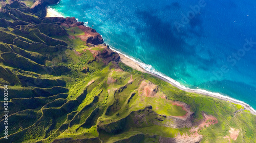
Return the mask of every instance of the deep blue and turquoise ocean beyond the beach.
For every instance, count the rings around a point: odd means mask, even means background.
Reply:
[[[256,1],[61,0],[51,8],[94,25],[147,70],[256,109]]]

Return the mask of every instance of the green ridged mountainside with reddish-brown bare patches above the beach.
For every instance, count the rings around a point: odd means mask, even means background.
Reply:
[[[82,22],[44,18],[46,3],[1,2],[0,142],[256,142],[243,106],[127,67]]]

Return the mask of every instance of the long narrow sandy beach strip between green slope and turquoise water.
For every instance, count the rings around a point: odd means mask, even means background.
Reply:
[[[124,54],[122,54],[122,53],[120,53],[120,52],[118,52],[118,54],[120,55],[120,58],[121,58],[120,60],[121,60],[121,62],[123,62],[125,65],[127,65],[127,66],[129,66],[129,67],[131,67],[131,68],[133,68],[133,69],[136,69],[136,70],[138,70],[138,71],[141,71],[141,72],[144,72],[144,73],[148,73],[148,74],[151,74],[151,75],[153,75],[153,76],[155,76],[155,77],[158,77],[158,78],[160,78],[160,79],[162,79],[162,80],[164,80],[164,81],[166,81],[166,82],[172,84],[174,87],[176,87],[176,88],[178,88],[178,89],[180,89],[180,90],[182,90],[182,91],[185,91],[185,92],[202,94],[202,95],[206,95],[206,96],[218,98],[218,99],[221,99],[221,100],[225,100],[225,101],[228,101],[228,102],[231,102],[231,103],[234,103],[234,104],[240,104],[240,105],[244,106],[246,110],[249,110],[253,115],[256,116],[256,112],[255,112],[255,111],[252,109],[252,107],[250,107],[249,105],[243,104],[243,103],[238,102],[238,101],[236,101],[236,100],[232,100],[232,99],[230,99],[230,98],[220,97],[220,96],[213,95],[213,94],[209,94],[209,93],[205,93],[205,92],[199,91],[199,90],[183,89],[183,88],[179,87],[178,85],[176,85],[175,83],[173,83],[172,81],[169,81],[168,79],[166,79],[166,78],[164,78],[164,77],[162,77],[162,76],[159,76],[159,75],[157,75],[157,74],[155,74],[155,73],[146,71],[146,70],[143,69],[138,63],[136,63],[136,62],[134,62],[133,60],[127,58]]]

